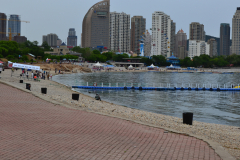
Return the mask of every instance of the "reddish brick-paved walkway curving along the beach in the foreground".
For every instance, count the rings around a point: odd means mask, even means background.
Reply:
[[[0,83],[0,159],[220,159],[207,143],[54,105]]]

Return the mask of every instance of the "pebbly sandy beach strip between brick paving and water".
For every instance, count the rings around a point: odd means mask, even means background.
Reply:
[[[46,67],[45,69],[47,69]],[[72,68],[76,72],[84,72],[82,69]],[[238,71],[235,69],[234,71]],[[220,72],[220,70],[217,70]],[[222,70],[221,70],[222,71]],[[229,71],[225,70],[224,72]],[[94,112],[102,115],[118,117],[133,122],[163,128],[169,132],[182,133],[202,139],[209,143],[213,149],[224,159],[231,159],[232,155],[240,159],[240,127],[226,126],[219,124],[210,124],[194,121],[192,126],[182,123],[181,118],[150,113],[146,111],[131,109],[113,103],[96,101],[92,97],[80,94],[79,101],[72,100],[72,93],[76,93],[71,86],[65,86],[51,80],[33,80],[23,79],[24,83],[19,83],[21,70],[14,71],[11,77],[11,70],[7,69],[0,74],[0,82],[14,86],[21,90],[26,90],[26,84],[31,84],[31,93],[46,101],[61,104],[66,107],[80,109],[88,112]],[[68,72],[71,73],[71,72]],[[51,69],[50,74],[55,74]],[[87,73],[86,73],[87,74]],[[47,94],[41,94],[41,88],[47,88]],[[230,155],[228,155],[228,153]]]

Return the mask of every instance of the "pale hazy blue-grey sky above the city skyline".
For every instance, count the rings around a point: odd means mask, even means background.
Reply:
[[[3,1],[3,0],[1,0]],[[8,17],[21,16],[21,35],[30,41],[42,44],[42,36],[55,33],[67,41],[69,28],[75,28],[78,45],[81,44],[83,17],[88,9],[99,0],[5,0],[0,12]],[[176,22],[176,33],[183,29],[189,35],[189,24],[199,22],[204,25],[206,35],[219,37],[220,24],[229,23],[239,0],[111,0],[110,12],[124,12],[130,16],[146,18],[146,29],[152,26],[152,13],[162,11]]]

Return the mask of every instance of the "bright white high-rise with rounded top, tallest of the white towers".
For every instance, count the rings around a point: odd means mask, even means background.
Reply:
[[[163,55],[170,57],[171,18],[163,12],[152,14],[152,50],[151,56]]]

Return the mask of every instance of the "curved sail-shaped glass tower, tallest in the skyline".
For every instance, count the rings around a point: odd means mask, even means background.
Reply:
[[[110,0],[94,4],[82,23],[82,47],[103,46],[109,48]]]

